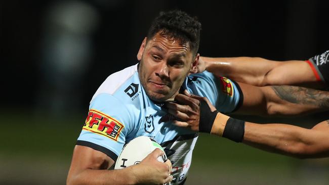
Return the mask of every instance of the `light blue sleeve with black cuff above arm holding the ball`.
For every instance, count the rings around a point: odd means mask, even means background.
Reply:
[[[77,145],[91,147],[114,161],[126,142],[132,123],[129,110],[110,94],[100,94],[91,104]]]

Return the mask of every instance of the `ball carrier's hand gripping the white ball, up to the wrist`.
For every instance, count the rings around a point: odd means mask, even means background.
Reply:
[[[170,175],[172,171],[172,163],[170,160],[160,162],[157,160],[165,152],[160,149],[155,149],[139,164],[132,166],[134,175],[138,183],[142,184],[165,184],[173,180]]]

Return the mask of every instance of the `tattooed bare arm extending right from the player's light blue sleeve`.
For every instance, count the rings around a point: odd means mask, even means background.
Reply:
[[[297,86],[256,87],[239,83],[243,105],[238,114],[300,115],[329,110],[329,92]]]

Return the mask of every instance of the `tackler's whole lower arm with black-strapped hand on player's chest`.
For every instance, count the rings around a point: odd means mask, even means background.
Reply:
[[[186,96],[185,96],[186,95]],[[288,124],[257,124],[224,115],[207,98],[177,95],[178,103],[167,103],[174,124],[211,133],[261,150],[297,158],[329,156],[329,120],[306,129]]]

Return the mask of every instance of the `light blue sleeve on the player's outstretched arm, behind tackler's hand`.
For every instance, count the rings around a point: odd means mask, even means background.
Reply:
[[[185,88],[194,95],[207,97],[217,110],[223,113],[235,111],[243,101],[236,82],[225,77],[216,77],[208,71],[189,75]]]

